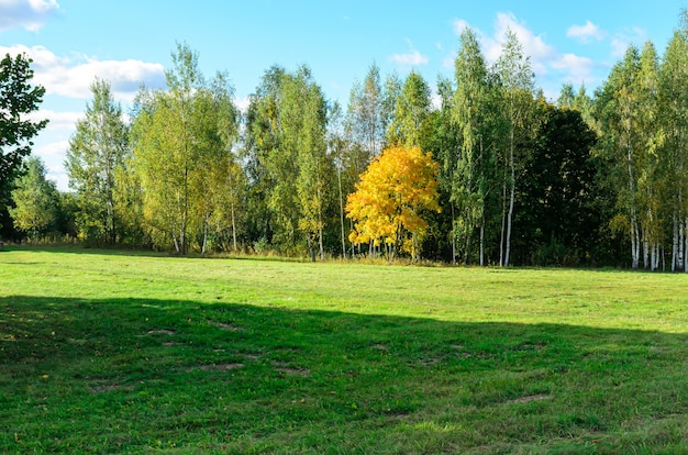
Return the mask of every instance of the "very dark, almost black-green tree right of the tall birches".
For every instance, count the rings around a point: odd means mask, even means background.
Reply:
[[[575,109],[540,100],[536,115],[537,138],[518,189],[523,209],[514,219],[521,234],[512,257],[528,265],[589,264],[602,236],[590,154],[596,135]]]

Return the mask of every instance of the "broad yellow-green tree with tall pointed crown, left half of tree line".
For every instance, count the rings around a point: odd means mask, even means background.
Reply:
[[[177,45],[166,78],[168,90],[141,93],[133,125],[144,215],[157,245],[171,243],[184,255],[197,240],[204,253],[220,200],[217,166],[226,164],[226,138],[234,134],[220,131],[218,115],[231,113],[220,109],[226,93],[206,82],[188,45]]]

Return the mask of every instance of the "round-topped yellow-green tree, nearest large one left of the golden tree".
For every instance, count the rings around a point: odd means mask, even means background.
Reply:
[[[307,66],[293,73],[270,68],[247,115],[246,162],[254,195],[267,209],[265,232],[281,252],[306,246],[312,259],[315,252],[324,257],[325,212],[333,200],[326,122],[328,103]]]

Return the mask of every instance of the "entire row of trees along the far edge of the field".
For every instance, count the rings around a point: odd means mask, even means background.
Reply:
[[[688,271],[686,16],[663,56],[631,45],[592,95],[565,85],[556,102],[512,32],[490,65],[466,29],[435,102],[415,71],[373,64],[342,107],[308,66],[273,66],[245,112],[228,75],[208,79],[178,44],[167,87],[143,88],[130,119],[108,81],[92,84],[65,162],[73,192],[26,160],[3,232],[179,254]]]

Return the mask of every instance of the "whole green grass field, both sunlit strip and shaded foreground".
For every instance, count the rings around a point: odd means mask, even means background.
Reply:
[[[0,453],[687,453],[687,290],[5,247]]]

